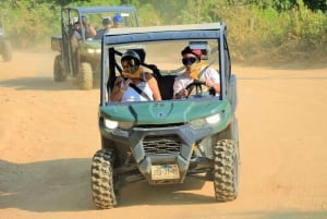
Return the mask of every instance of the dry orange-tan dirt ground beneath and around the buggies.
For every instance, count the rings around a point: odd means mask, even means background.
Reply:
[[[213,183],[123,188],[97,210],[90,159],[100,148],[99,92],[55,83],[51,51],[0,61],[0,218],[326,219],[327,65],[233,66],[238,75],[240,195]]]

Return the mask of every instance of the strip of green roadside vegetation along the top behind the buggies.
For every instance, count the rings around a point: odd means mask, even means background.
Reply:
[[[326,0],[8,0],[0,11],[13,47],[29,49],[60,34],[62,5],[107,4],[136,7],[143,26],[223,21],[235,61],[327,60]]]

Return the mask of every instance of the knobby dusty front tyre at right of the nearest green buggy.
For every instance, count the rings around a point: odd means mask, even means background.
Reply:
[[[218,202],[233,200],[239,194],[238,143],[220,139],[214,148],[214,186]]]

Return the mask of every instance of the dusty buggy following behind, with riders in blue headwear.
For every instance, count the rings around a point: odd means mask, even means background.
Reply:
[[[136,9],[118,7],[65,7],[61,9],[61,35],[51,36],[51,49],[59,51],[53,63],[55,82],[66,81],[69,76],[77,80],[81,89],[92,89],[99,85],[101,65],[101,37],[87,37],[82,21],[102,33],[102,19],[119,14],[122,27],[138,26]]]

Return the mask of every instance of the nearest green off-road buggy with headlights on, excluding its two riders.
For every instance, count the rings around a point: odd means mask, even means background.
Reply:
[[[204,65],[217,71],[219,94],[194,80],[187,98],[172,99],[185,46],[201,49]],[[122,72],[122,52],[128,50],[136,51],[144,71],[157,78],[161,101],[110,101],[114,80]],[[225,23],[110,32],[102,39],[99,100],[101,149],[93,157],[90,175],[97,208],[118,205],[126,183],[175,184],[187,177],[213,181],[218,202],[237,198],[237,77],[231,72]]]

